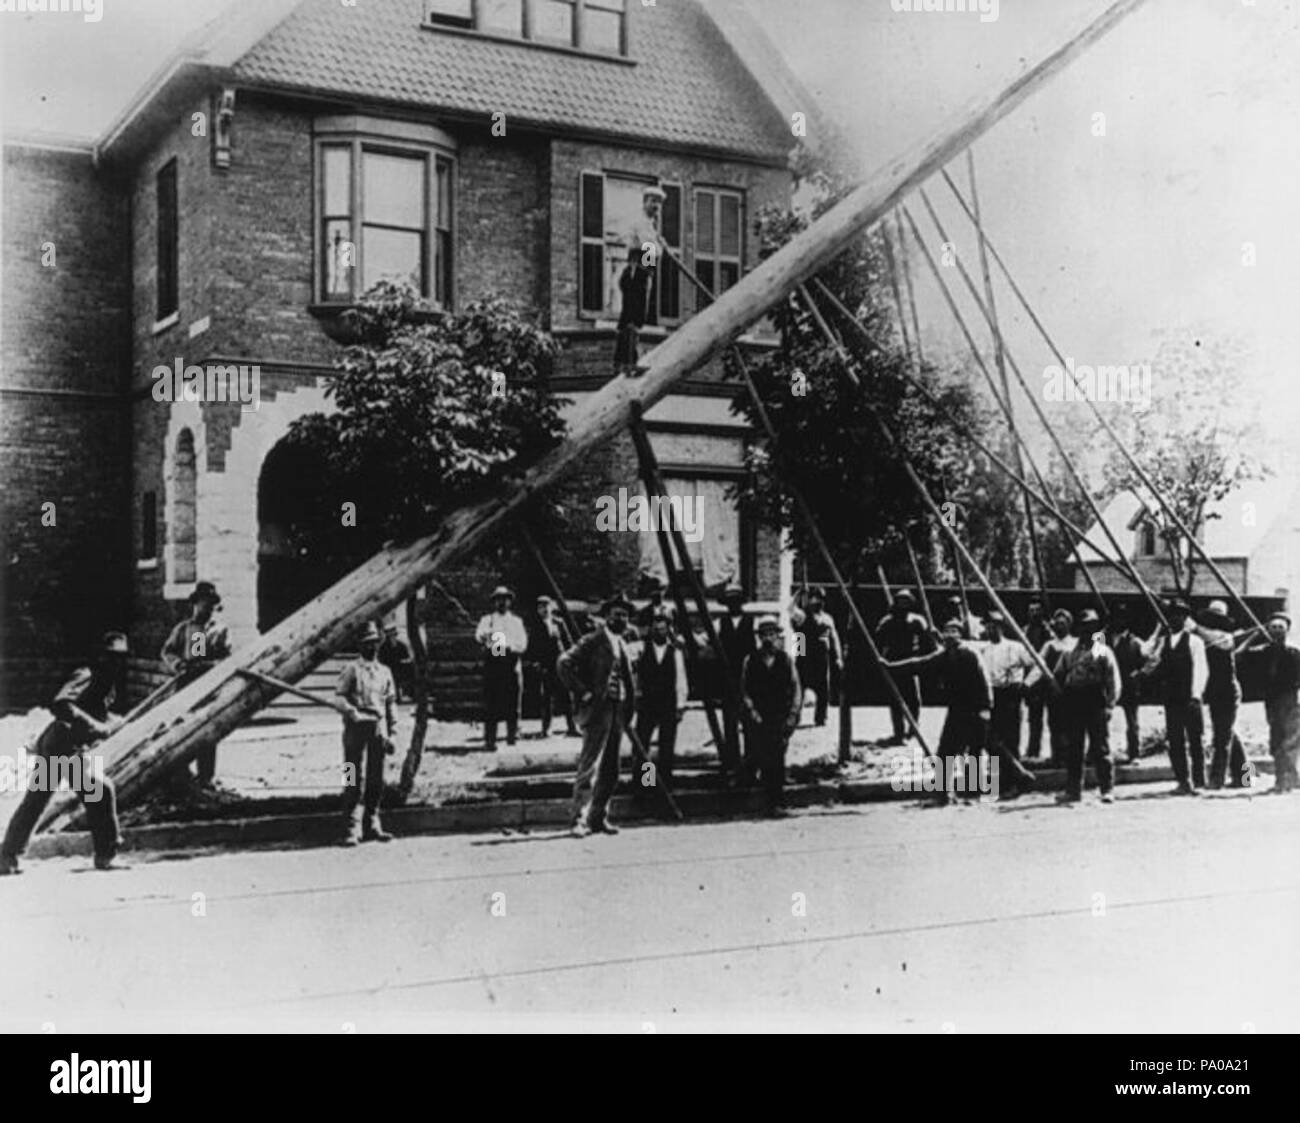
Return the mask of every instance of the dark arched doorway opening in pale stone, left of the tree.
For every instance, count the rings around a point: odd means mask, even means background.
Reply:
[[[257,477],[257,630],[274,628],[356,564],[324,459],[292,437]],[[355,534],[355,530],[352,530]]]

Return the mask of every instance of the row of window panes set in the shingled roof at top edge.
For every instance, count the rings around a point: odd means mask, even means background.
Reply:
[[[628,53],[627,0],[425,0],[425,21],[489,35]]]

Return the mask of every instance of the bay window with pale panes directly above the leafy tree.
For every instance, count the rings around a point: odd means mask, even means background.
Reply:
[[[330,118],[317,122],[316,131],[317,298],[348,303],[380,281],[394,281],[450,307],[455,276],[450,138],[428,126],[367,118]]]

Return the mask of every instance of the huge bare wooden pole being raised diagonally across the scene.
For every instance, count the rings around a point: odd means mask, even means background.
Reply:
[[[136,798],[176,763],[234,732],[276,697],[278,691],[273,686],[251,681],[239,673],[242,669],[290,682],[303,677],[347,643],[360,624],[390,612],[421,582],[482,542],[538,493],[555,484],[592,448],[625,428],[633,402],[649,408],[668,394],[714,351],[833,260],[853,235],[880,221],[892,207],[1144,3],[1115,0],[1005,88],[956,113],[932,138],[874,172],[820,220],[655,347],[644,360],[644,374],[615,377],[594,393],[573,419],[564,442],[521,478],[502,485],[494,495],[473,506],[451,512],[432,534],[387,546],[265,636],[177,691],[143,720],[124,725],[101,742],[107,775],[117,784],[122,802]],[[53,801],[42,821],[43,829],[66,824],[74,806],[75,801],[69,798]]]

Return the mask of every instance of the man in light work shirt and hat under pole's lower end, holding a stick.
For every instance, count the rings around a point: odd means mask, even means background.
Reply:
[[[361,630],[356,646],[359,656],[342,669],[334,688],[344,711],[344,846],[387,842],[393,837],[380,823],[380,799],[384,797],[384,758],[396,751],[398,691],[393,672],[380,662],[380,629],[373,623]]]

